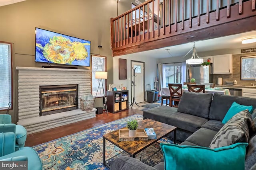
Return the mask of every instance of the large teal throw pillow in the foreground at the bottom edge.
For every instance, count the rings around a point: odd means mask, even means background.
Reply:
[[[210,149],[160,143],[165,170],[244,170],[247,145],[236,143]]]

